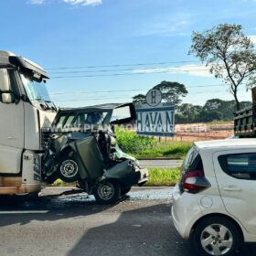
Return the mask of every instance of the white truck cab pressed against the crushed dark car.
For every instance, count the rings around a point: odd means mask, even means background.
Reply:
[[[41,158],[57,108],[46,89],[47,72],[0,50],[0,195],[41,189]]]

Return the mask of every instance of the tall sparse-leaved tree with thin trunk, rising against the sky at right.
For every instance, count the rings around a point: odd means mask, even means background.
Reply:
[[[256,81],[256,54],[240,25],[220,24],[202,33],[193,32],[188,54],[206,63],[216,78],[229,84],[236,109],[240,110],[238,89],[250,88]]]

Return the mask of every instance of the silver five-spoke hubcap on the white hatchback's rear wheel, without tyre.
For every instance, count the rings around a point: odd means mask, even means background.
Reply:
[[[201,245],[210,255],[223,255],[233,244],[230,230],[221,224],[209,225],[202,231]]]

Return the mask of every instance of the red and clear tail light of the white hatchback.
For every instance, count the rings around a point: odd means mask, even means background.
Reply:
[[[210,187],[203,170],[189,170],[182,181],[182,187],[189,193],[198,193]]]

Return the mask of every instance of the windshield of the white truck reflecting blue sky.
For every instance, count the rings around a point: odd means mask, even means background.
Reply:
[[[21,79],[27,92],[27,97],[30,101],[50,101],[46,84],[44,82],[30,80],[24,75],[21,75]]]

